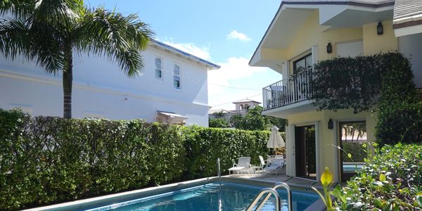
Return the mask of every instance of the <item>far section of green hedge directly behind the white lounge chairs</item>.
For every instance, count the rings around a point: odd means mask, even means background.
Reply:
[[[248,156],[259,164],[258,155],[268,155],[269,132],[243,131],[206,127],[186,127],[188,178],[210,177],[217,174],[216,161],[220,158],[222,172],[237,163],[237,158]]]

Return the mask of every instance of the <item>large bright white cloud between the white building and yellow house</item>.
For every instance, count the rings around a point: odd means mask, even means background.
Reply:
[[[267,68],[250,67],[248,58],[231,57],[225,63],[219,63],[221,66],[219,70],[211,70],[208,72],[208,94],[209,96],[224,93],[227,87],[231,87],[229,81],[233,82],[238,79],[245,79],[251,77],[255,73],[266,72]],[[215,84],[219,84],[222,87]],[[240,88],[251,89],[250,92],[257,92],[255,84],[244,84]],[[230,88],[229,88],[230,89]],[[243,90],[245,90],[243,89]],[[234,89],[231,89],[234,91]],[[236,90],[236,89],[235,89]],[[241,90],[241,89],[238,89]],[[259,91],[258,91],[259,92]]]

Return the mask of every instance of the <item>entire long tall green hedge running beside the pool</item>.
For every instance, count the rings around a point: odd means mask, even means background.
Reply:
[[[268,136],[0,110],[0,210],[213,176],[217,157],[226,170],[238,156],[268,153]]]

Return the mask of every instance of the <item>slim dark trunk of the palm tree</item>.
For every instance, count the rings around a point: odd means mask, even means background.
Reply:
[[[65,46],[66,62],[63,68],[63,118],[72,118],[72,45],[66,44]]]

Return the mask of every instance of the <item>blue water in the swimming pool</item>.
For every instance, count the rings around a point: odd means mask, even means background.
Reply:
[[[129,200],[114,205],[96,207],[94,210],[245,210],[253,198],[262,189],[259,186],[246,186],[240,184],[223,183],[222,192],[219,194],[219,184],[205,184],[180,191],[163,193],[157,196],[149,196]],[[278,191],[283,204],[283,210],[287,210],[287,193]],[[219,203],[221,195],[221,203]],[[318,200],[313,193],[293,191],[293,210],[305,210],[306,207]],[[274,197],[265,203],[262,210],[275,210]]]

